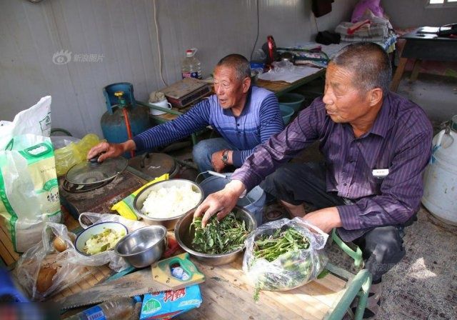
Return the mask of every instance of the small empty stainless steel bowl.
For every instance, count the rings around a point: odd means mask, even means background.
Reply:
[[[114,252],[136,268],[158,261],[166,249],[166,228],[145,226],[119,240]]]

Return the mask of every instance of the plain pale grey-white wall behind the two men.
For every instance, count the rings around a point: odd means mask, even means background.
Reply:
[[[348,19],[351,1],[335,1],[331,14],[317,19],[320,30]],[[41,96],[52,96],[52,124],[74,136],[101,135],[106,111],[101,89],[134,84],[136,99],[163,87],[154,25],[153,0],[0,0],[0,119],[11,121]],[[199,49],[204,75],[221,57],[251,54],[256,38],[256,1],[156,0],[166,81],[180,79],[185,50]],[[259,0],[257,47],[273,34],[278,46],[310,41],[316,34],[311,1]],[[67,64],[54,64],[68,50]],[[75,54],[101,55],[99,62],[74,61]]]

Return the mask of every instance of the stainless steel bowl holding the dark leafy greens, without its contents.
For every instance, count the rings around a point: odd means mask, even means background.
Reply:
[[[244,246],[241,249],[236,251],[231,251],[227,254],[201,254],[200,252],[194,251],[192,248],[192,240],[194,239],[195,229],[194,226],[191,226],[191,223],[194,219],[195,209],[189,211],[185,216],[179,219],[176,227],[174,229],[174,236],[178,244],[182,249],[186,250],[194,256],[197,260],[209,264],[210,266],[219,266],[221,264],[229,264],[234,261],[238,256],[243,253]],[[241,208],[240,206],[235,206],[233,208],[233,213],[236,215],[237,219],[243,220],[246,222],[249,231],[253,231],[257,227],[256,219],[253,215]]]

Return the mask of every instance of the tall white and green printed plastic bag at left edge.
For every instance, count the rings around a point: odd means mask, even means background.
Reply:
[[[47,96],[0,126],[0,216],[17,252],[39,242],[46,221],[61,220],[50,110]]]

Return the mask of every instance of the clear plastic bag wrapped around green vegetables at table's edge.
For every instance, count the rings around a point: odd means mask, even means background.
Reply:
[[[256,240],[286,229],[294,229],[308,238],[308,249],[288,251],[273,261],[254,256]],[[271,221],[254,230],[245,241],[246,252],[243,258],[243,271],[256,288],[254,299],[258,299],[261,290],[286,291],[316,279],[328,260],[321,251],[327,238],[328,234],[301,218]]]

